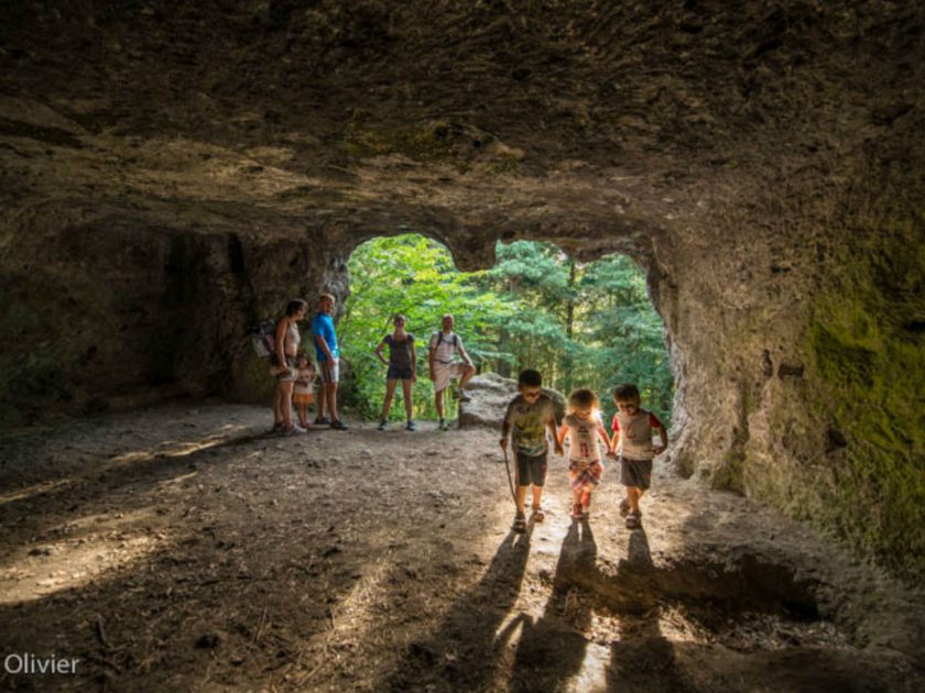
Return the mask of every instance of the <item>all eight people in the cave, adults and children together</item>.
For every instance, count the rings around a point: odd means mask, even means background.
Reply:
[[[271,373],[276,378],[273,399],[273,430],[285,435],[304,433],[313,426],[330,426],[347,430],[337,410],[337,386],[340,380],[340,352],[331,320],[335,298],[322,294],[318,310],[312,318],[312,339],[318,363],[315,371],[307,354],[300,351],[301,333],[298,322],[306,318],[308,305],[301,299],[291,300],[285,315],[276,323],[275,349]],[[385,399],[379,430],[389,426],[389,410],[399,381],[402,383],[405,414],[405,429],[416,430],[413,416],[412,385],[417,381],[417,351],[414,334],[406,329],[402,315],[394,317],[394,330],[382,338],[374,354],[385,373]],[[450,381],[458,378],[455,396],[468,402],[466,384],[476,372],[472,360],[466,353],[463,340],[453,331],[454,318],[445,315],[439,330],[431,334],[427,345],[427,364],[434,383],[434,404],[439,417],[439,428],[446,430],[444,394]],[[389,358],[383,355],[389,350]],[[317,416],[308,421],[308,405],[314,402],[313,387],[318,381]],[[603,474],[601,449],[608,458],[619,461],[620,483],[627,487],[627,496],[620,503],[620,515],[627,527],[641,526],[640,499],[650,487],[652,460],[665,450],[668,440],[665,427],[657,417],[642,408],[639,388],[630,383],[619,385],[613,392],[617,413],[611,421],[612,436],[607,432],[600,416],[600,400],[588,388],[579,388],[568,396],[566,416],[559,424],[552,398],[543,393],[543,377],[538,371],[527,369],[518,377],[518,395],[508,405],[502,422],[501,448],[507,455],[509,440],[513,443],[516,468],[516,513],[514,530],[526,529],[526,495],[532,487],[532,519],[544,519],[541,504],[546,481],[548,441],[554,441],[555,452],[564,454],[568,442],[568,475],[572,486],[572,516],[587,519],[590,516],[591,494]],[[298,413],[298,422],[292,420],[292,407]],[[652,432],[661,438],[657,446],[652,442]],[[548,436],[547,436],[548,433]]]

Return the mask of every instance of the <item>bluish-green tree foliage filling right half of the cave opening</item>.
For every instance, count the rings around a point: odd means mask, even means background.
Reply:
[[[538,369],[552,387],[591,387],[606,417],[620,383],[635,383],[645,407],[666,424],[673,376],[662,320],[645,293],[645,277],[628,257],[578,264],[555,245],[499,244],[487,278],[514,309],[496,320],[499,351],[511,373]],[[503,370],[501,360],[496,367]]]

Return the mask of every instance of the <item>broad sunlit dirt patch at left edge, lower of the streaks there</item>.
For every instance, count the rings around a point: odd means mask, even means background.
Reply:
[[[64,526],[64,531],[91,530],[79,537],[25,546],[0,565],[0,605],[33,602],[65,590],[90,584],[105,573],[122,570],[155,551],[167,537],[145,527],[148,508],[116,517],[92,515]]]

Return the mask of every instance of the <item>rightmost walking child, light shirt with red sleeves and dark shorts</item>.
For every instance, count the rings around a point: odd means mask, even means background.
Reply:
[[[636,529],[642,524],[639,502],[652,483],[652,459],[665,451],[668,435],[659,418],[641,408],[639,388],[624,383],[613,391],[613,440],[610,449],[620,458],[620,483],[627,487],[627,497],[620,502],[620,515],[627,518],[627,527]],[[652,429],[662,438],[657,447],[652,446]]]

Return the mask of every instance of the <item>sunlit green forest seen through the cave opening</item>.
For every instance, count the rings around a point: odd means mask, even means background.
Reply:
[[[610,255],[579,263],[553,244],[527,241],[499,243],[497,256],[489,271],[458,272],[449,251],[422,235],[360,245],[350,256],[351,295],[338,328],[350,365],[345,404],[378,418],[385,367],[373,350],[392,331],[392,317],[403,314],[417,340],[415,416],[435,417],[427,342],[450,312],[479,373],[515,378],[533,367],[545,386],[564,395],[590,387],[605,420],[613,411],[613,387],[632,382],[643,406],[670,420],[673,377],[662,320],[633,261]],[[403,407],[392,408],[393,418],[402,416]]]

